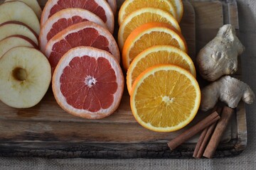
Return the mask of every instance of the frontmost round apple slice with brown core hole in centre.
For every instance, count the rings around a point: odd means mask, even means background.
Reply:
[[[49,88],[50,64],[35,48],[12,48],[1,57],[0,68],[0,100],[8,106],[35,106]]]

